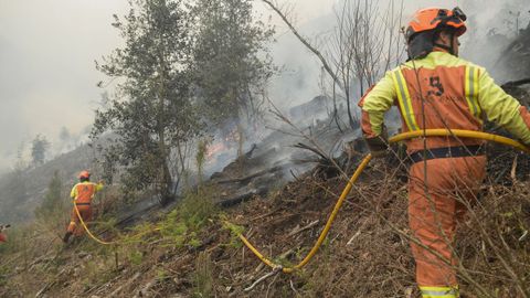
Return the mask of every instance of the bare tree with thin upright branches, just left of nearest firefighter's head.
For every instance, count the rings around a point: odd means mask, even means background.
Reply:
[[[322,68],[332,81],[333,117],[338,121],[336,86],[342,91],[346,100],[348,121],[352,129],[358,127],[351,110],[351,96],[359,91],[359,97],[372,86],[392,65],[401,62],[403,54],[402,36],[396,34],[403,11],[403,1],[396,8],[394,0],[389,1],[385,10],[374,1],[344,0],[336,11],[337,28],[331,42],[328,43],[326,56],[315,45],[303,36],[289,20],[288,12],[282,11],[274,0],[262,0],[273,9],[293,34],[311,51],[322,64]]]

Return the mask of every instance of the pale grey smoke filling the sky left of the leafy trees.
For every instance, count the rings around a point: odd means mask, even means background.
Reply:
[[[0,0],[0,169],[38,134],[81,134],[94,118],[102,75],[94,60],[120,42],[112,14],[126,0]]]

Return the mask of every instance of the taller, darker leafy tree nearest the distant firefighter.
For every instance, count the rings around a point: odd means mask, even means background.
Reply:
[[[181,148],[201,127],[186,67],[189,13],[183,0],[134,0],[124,21],[114,18],[125,46],[96,67],[125,82],[118,85],[119,96],[97,110],[92,137],[113,130],[117,142],[106,150],[125,167],[127,189],[155,188],[165,204],[176,189],[170,167],[182,160]]]

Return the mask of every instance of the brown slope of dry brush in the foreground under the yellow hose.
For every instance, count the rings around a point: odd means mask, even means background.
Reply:
[[[505,159],[490,162],[490,169],[509,170],[496,183],[497,178],[489,175],[479,203],[459,227],[455,249],[464,260],[459,269],[464,297],[487,297],[485,292],[524,297],[521,292],[530,291],[523,281],[530,278],[530,240],[524,237],[530,227],[530,169],[528,158],[521,157],[513,168],[516,153],[509,157],[509,152],[505,150]],[[407,238],[406,187],[400,171],[385,161],[373,162],[362,174],[325,244],[306,267],[244,290],[271,268],[231,231],[242,228],[275,262],[297,264],[315,243],[343,187],[340,177],[322,179],[315,169],[267,195],[256,194],[212,213],[195,235],[198,245],[177,245],[165,232],[144,234],[117,251],[85,240],[28,264],[30,269],[19,264],[19,273],[4,284],[0,296],[41,291],[40,297],[93,298],[417,297]]]

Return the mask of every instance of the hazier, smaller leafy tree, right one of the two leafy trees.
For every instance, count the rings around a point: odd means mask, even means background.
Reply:
[[[241,140],[242,120],[256,120],[263,110],[274,73],[265,45],[274,31],[253,20],[251,0],[199,0],[193,15],[195,95],[208,120],[215,127],[235,123]]]

